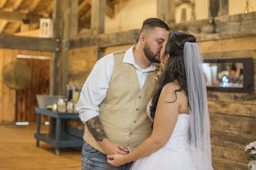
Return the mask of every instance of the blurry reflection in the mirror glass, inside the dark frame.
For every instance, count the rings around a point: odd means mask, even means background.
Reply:
[[[243,63],[204,63],[206,86],[243,88]]]

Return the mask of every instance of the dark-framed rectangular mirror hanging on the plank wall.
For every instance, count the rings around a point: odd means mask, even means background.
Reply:
[[[205,59],[207,90],[253,93],[253,58]]]

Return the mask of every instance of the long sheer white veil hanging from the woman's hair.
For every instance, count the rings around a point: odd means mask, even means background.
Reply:
[[[190,110],[190,142],[194,166],[198,170],[211,170],[211,143],[206,82],[201,48],[197,43],[184,45],[188,100]]]

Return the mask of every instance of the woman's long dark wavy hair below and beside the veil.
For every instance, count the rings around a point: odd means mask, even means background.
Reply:
[[[170,58],[168,59],[168,62],[165,65],[164,71],[159,77],[158,87],[152,99],[150,114],[153,119],[155,117],[158,98],[161,94],[163,87],[166,84],[174,82],[180,86],[178,90],[175,90],[176,99],[177,99],[177,95],[176,95],[177,91],[184,91],[185,95],[188,96],[186,69],[185,69],[184,58],[183,58],[184,44],[186,42],[195,43],[196,38],[193,35],[182,33],[182,32],[174,31],[169,33],[167,43],[165,46],[165,52],[164,52],[164,55],[162,56],[162,59],[168,54],[170,55]],[[176,99],[169,103],[175,102]],[[188,106],[190,108],[189,102],[188,102]],[[153,128],[153,124],[152,124],[152,128]]]

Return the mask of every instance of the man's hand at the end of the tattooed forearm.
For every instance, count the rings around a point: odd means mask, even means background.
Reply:
[[[126,155],[128,152],[128,149],[126,149],[125,147],[117,143],[113,143],[108,139],[104,139],[102,142],[98,142],[98,143],[101,146],[101,148],[104,149],[104,151],[106,151],[107,155],[113,155],[113,154]]]

